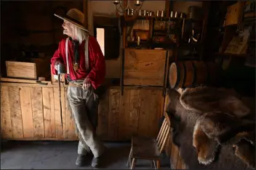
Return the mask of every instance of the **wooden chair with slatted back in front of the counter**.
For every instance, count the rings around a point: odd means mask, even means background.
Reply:
[[[160,169],[160,154],[165,148],[167,137],[170,135],[169,129],[169,116],[164,112],[164,122],[156,138],[132,136],[132,147],[129,152],[127,167],[130,166],[130,169],[135,169],[137,159],[144,159],[152,161],[155,169]]]

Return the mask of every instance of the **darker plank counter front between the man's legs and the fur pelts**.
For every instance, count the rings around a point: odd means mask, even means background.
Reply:
[[[161,88],[111,89],[99,106],[98,134],[103,140],[131,140],[132,135],[156,137],[164,109]]]

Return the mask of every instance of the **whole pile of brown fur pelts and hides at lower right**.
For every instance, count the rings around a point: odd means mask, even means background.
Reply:
[[[239,94],[199,87],[168,95],[172,142],[190,169],[255,169],[255,120]]]

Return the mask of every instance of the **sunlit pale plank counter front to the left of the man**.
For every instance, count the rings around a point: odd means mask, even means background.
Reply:
[[[10,140],[76,140],[66,88],[1,85],[1,137]]]

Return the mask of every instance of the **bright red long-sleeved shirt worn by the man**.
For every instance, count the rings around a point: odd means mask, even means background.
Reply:
[[[66,39],[60,41],[59,47],[55,51],[55,54],[52,56],[51,63],[53,75],[57,75],[57,70],[55,70],[55,61],[57,60],[65,64],[65,69],[67,69],[67,63],[65,58],[65,41]],[[90,71],[86,72],[83,41],[79,46],[79,69],[77,70],[77,72],[74,72],[73,43],[71,41],[68,41],[68,64],[71,80],[79,80],[88,77],[89,80],[91,80],[92,82],[93,88],[96,89],[103,83],[105,79],[105,58],[99,44],[97,43],[97,40],[92,36],[89,36],[88,54]]]

